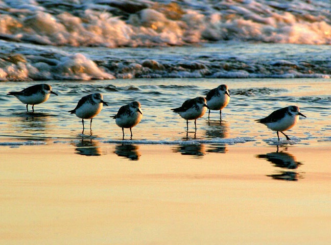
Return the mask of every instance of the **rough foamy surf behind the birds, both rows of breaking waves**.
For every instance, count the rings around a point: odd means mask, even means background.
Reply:
[[[0,13],[1,81],[331,74],[328,0],[0,1]]]

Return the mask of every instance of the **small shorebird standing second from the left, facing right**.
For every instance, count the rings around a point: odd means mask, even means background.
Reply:
[[[82,99],[79,100],[76,108],[68,112],[70,112],[71,114],[76,114],[76,116],[82,118],[84,132],[84,119],[91,119],[90,129],[92,129],[92,119],[94,116],[99,114],[103,105],[108,106],[108,104],[103,101],[102,94],[91,93],[82,97]]]

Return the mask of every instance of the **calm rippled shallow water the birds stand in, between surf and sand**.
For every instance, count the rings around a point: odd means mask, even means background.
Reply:
[[[25,105],[15,97],[5,95],[19,91],[31,82],[6,82],[0,87],[3,113],[0,117],[0,137],[3,141],[57,143],[81,139],[101,142],[122,142],[122,131],[115,125],[111,115],[131,101],[139,101],[143,119],[133,128],[130,140],[125,130],[125,140],[143,144],[217,144],[217,145],[329,145],[331,140],[329,108],[331,86],[325,79],[130,79],[92,82],[49,81],[59,96],[35,106],[35,113],[27,113]],[[194,132],[193,121],[186,122],[170,109],[180,106],[185,100],[205,95],[209,89],[226,83],[230,90],[230,103],[219,112],[211,111],[197,120]],[[93,119],[92,131],[85,120],[82,133],[81,119],[67,111],[76,107],[86,94],[101,92],[104,106]],[[292,139],[277,140],[276,133],[254,120],[269,115],[272,111],[297,105],[307,117],[300,117],[298,124],[287,131]],[[31,110],[31,107],[30,107]],[[6,144],[5,142],[3,144]]]

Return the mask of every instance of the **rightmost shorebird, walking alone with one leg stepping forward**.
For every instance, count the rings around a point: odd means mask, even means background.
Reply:
[[[255,121],[266,125],[269,129],[277,132],[277,137],[279,140],[278,132],[285,135],[287,140],[291,140],[283,131],[291,129],[299,120],[299,115],[306,117],[300,113],[300,109],[297,106],[288,106],[281,108],[272,112],[269,116],[257,119]]]

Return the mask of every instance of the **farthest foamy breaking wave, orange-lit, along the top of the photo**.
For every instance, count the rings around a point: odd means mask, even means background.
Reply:
[[[40,44],[107,47],[219,40],[331,43],[328,1],[83,2],[3,3],[1,35]]]

